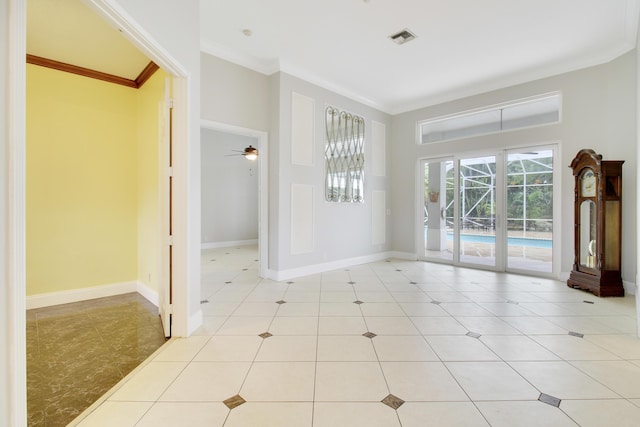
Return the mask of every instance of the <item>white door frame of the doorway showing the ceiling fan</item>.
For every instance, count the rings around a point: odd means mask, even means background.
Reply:
[[[200,127],[258,139],[258,260],[260,277],[271,279],[269,269],[269,134],[265,131],[200,120]]]

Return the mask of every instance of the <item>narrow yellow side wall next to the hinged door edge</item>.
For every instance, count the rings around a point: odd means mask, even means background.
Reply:
[[[168,78],[156,71],[137,92],[137,280],[153,292],[159,290],[161,275],[160,137],[161,105]],[[167,231],[168,232],[168,231]]]

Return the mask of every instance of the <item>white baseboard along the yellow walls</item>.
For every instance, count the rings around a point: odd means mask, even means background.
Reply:
[[[68,291],[50,292],[46,294],[29,295],[26,298],[26,308],[50,307],[52,305],[69,304],[96,298],[138,292],[156,307],[158,306],[158,292],[140,281],[112,283],[109,285],[92,286],[90,288],[72,289]]]

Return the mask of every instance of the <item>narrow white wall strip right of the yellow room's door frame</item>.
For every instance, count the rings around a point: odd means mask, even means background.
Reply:
[[[199,3],[196,0],[153,3],[148,0],[92,0],[107,3],[107,6],[123,11],[152,39],[168,56],[173,58],[187,74],[185,87],[174,86],[176,91],[185,91],[187,105],[177,105],[174,113],[177,126],[184,126],[188,134],[185,144],[174,158],[174,182],[179,189],[174,200],[178,223],[174,235],[174,272],[178,282],[186,289],[174,287],[174,316],[180,319],[173,323],[176,336],[186,336],[201,323],[200,310],[200,28]],[[159,64],[162,66],[162,64]],[[163,68],[165,68],[163,66]],[[165,68],[167,69],[167,68]],[[175,216],[174,216],[175,218]],[[182,317],[188,318],[187,322]]]

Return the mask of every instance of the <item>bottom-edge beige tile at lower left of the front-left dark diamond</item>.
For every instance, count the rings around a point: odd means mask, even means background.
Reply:
[[[216,427],[224,424],[228,414],[222,402],[158,402],[136,427]]]

